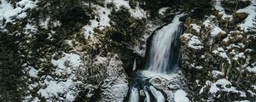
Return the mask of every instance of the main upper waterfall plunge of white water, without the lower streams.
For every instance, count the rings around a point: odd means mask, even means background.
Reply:
[[[174,48],[177,37],[182,33],[179,21],[182,16],[176,15],[172,23],[155,32],[146,66],[148,71],[167,74],[177,69],[178,55],[174,53]]]

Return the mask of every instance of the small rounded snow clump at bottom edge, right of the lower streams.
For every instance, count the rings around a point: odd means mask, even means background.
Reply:
[[[183,91],[182,89],[179,89],[174,94],[175,102],[189,102],[189,98],[186,97],[188,94]]]

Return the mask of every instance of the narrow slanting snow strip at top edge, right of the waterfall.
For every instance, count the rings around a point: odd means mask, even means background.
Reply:
[[[224,11],[224,8],[221,6],[221,0],[216,0],[216,3],[214,4],[214,8],[218,10],[218,14],[222,14],[223,20],[233,20],[232,15],[226,14]]]

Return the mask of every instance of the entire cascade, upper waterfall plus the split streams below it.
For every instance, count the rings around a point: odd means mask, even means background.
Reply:
[[[178,67],[178,48],[177,38],[183,32],[181,18],[184,14],[178,14],[174,17],[171,24],[163,26],[156,31],[150,48],[149,59],[146,63],[146,70],[153,73],[168,74],[177,70]],[[136,63],[136,61],[134,62]],[[134,64],[133,70],[136,64]],[[139,102],[140,90],[145,95],[144,102],[165,102],[166,98],[160,90],[154,88],[148,79],[144,79],[141,74],[135,78],[135,83],[130,88],[129,102]],[[168,94],[167,94],[168,95]]]

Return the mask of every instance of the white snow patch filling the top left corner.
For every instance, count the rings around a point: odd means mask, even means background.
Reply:
[[[16,8],[13,7],[12,4],[8,3],[7,0],[1,0],[0,4],[0,24],[4,24],[8,22],[13,22],[15,18],[23,19],[26,17],[25,11],[28,8],[35,8],[37,1],[31,0],[21,0],[20,2],[16,3]],[[6,20],[4,22],[4,20]],[[4,22],[4,23],[3,23]],[[1,27],[1,26],[0,26]]]

